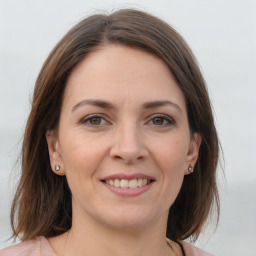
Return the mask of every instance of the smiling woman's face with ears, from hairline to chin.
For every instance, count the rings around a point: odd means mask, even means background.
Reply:
[[[193,137],[193,138],[192,138]],[[73,220],[122,229],[166,224],[200,145],[167,66],[140,49],[109,45],[71,73],[51,165],[72,192]]]

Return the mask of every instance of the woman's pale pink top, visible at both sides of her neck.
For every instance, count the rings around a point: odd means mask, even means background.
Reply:
[[[180,242],[185,256],[213,256],[187,242]],[[43,236],[0,250],[0,256],[57,256]]]

